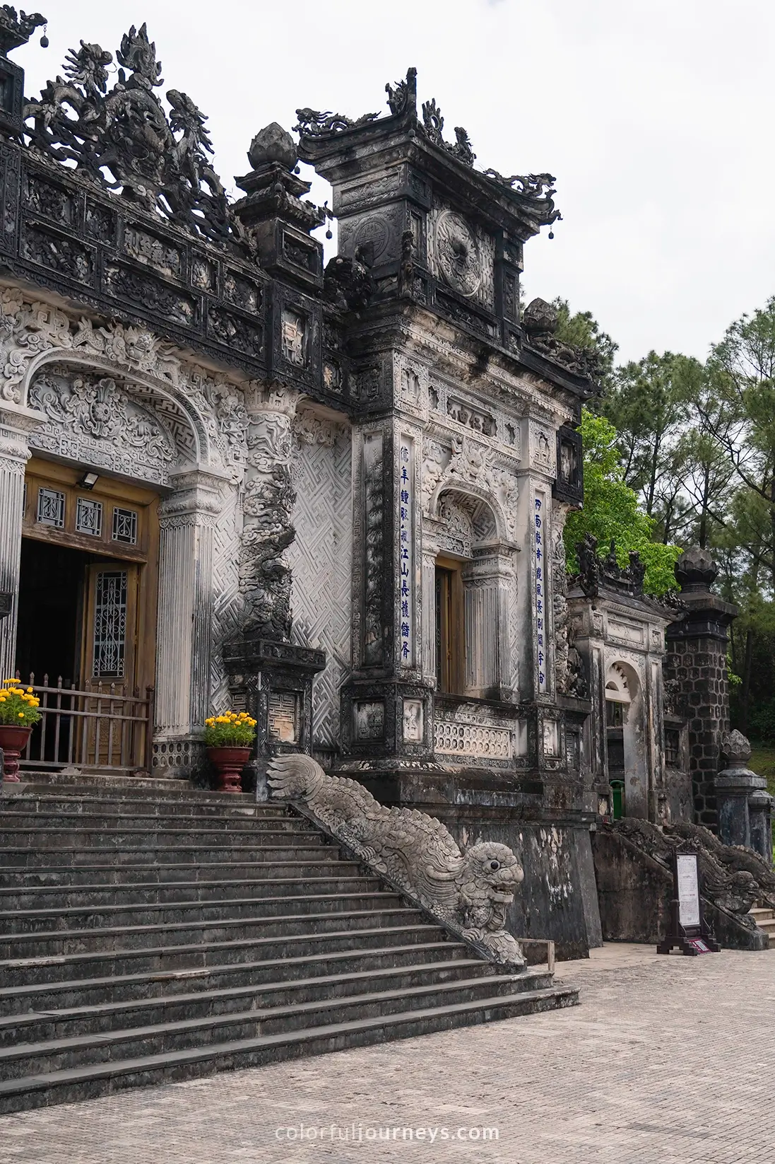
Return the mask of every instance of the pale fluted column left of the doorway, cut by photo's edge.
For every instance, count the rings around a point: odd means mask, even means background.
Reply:
[[[24,467],[29,433],[43,419],[34,409],[0,406],[0,605],[6,610],[0,618],[0,680],[14,674]]]

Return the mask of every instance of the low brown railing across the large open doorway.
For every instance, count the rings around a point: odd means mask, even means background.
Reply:
[[[20,767],[62,768],[74,765],[85,769],[151,769],[154,744],[154,688],[141,697],[126,695],[122,684],[88,681],[84,688],[65,687],[62,675],[56,686],[35,682],[30,674],[22,682],[40,698],[41,722],[33,729]]]

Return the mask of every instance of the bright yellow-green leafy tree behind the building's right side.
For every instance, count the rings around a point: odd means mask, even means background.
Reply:
[[[617,561],[627,565],[627,555],[637,551],[646,567],[644,589],[662,595],[675,589],[674,563],[681,553],[676,546],[654,541],[656,521],[644,512],[638,495],[624,480],[617,431],[605,417],[582,411],[584,450],[584,506],[570,513],[566,523],[566,556],[569,573],[578,569],[576,544],[591,533],[598,541],[598,553],[606,556],[616,542]]]

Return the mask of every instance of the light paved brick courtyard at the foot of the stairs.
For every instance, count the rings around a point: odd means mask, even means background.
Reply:
[[[581,1007],[5,1116],[0,1162],[775,1162],[775,951],[559,977]]]

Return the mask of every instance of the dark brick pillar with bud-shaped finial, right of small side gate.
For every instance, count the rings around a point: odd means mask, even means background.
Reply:
[[[706,549],[687,549],[675,566],[685,615],[667,627],[664,680],[676,680],[678,703],[685,709],[689,769],[695,821],[718,826],[716,778],[721,738],[730,730],[730,691],[726,676],[727,627],[737,608],[711,594],[718,574]]]

